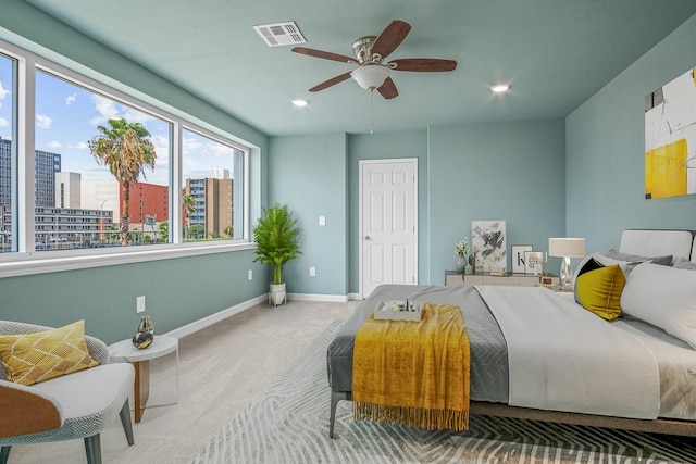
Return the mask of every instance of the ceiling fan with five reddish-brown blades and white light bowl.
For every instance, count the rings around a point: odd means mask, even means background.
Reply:
[[[376,88],[382,97],[388,100],[399,95],[394,80],[389,77],[390,71],[433,73],[453,71],[457,67],[457,62],[453,60],[436,58],[403,58],[384,63],[384,59],[401,45],[410,30],[411,26],[408,23],[394,20],[378,36],[361,37],[356,40],[352,45],[356,58],[306,47],[295,47],[293,51],[309,57],[340,61],[359,66],[351,72],[339,74],[328,80],[324,80],[309,89],[309,91],[318,92],[352,77],[360,87],[370,91]]]

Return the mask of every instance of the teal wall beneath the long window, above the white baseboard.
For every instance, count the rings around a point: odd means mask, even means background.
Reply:
[[[266,291],[268,281],[247,280],[252,252],[208,254],[0,279],[0,318],[48,326],[85,319],[86,331],[107,343],[135,334],[142,314],[163,334],[243,303]],[[263,285],[262,285],[263,284]]]

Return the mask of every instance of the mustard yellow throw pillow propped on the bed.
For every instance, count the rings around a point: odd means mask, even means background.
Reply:
[[[618,264],[589,271],[575,281],[577,302],[607,321],[621,315],[621,292],[626,284]]]

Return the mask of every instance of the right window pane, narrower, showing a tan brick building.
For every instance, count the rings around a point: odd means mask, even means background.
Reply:
[[[184,239],[243,238],[246,153],[188,129],[183,139]]]

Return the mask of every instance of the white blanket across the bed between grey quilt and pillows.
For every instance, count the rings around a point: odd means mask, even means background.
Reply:
[[[508,344],[510,405],[658,417],[658,366],[639,337],[546,288],[476,290]]]

